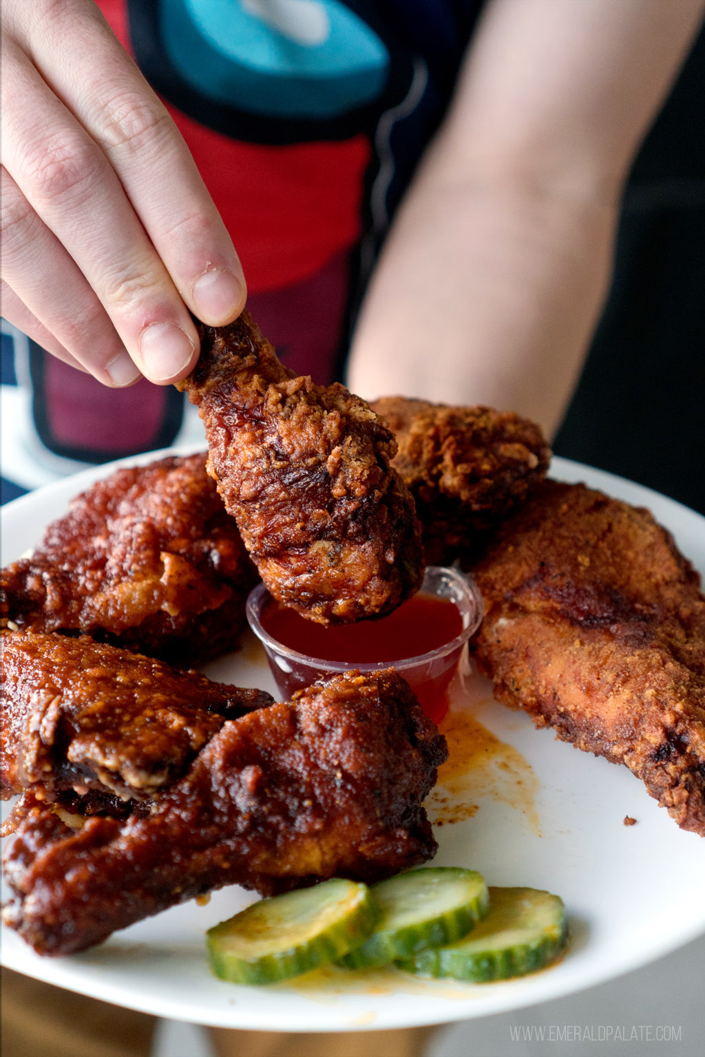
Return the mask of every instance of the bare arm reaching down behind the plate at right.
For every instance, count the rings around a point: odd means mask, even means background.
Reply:
[[[491,0],[387,240],[349,384],[552,434],[612,271],[625,178],[702,0]]]

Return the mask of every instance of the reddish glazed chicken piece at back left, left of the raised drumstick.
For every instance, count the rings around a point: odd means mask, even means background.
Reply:
[[[180,667],[235,649],[257,573],[206,456],[118,469],[2,570],[3,624],[80,631]]]

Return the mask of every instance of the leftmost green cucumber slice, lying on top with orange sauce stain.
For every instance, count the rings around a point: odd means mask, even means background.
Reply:
[[[208,960],[221,980],[275,983],[340,958],[376,917],[367,885],[336,877],[261,900],[208,929]]]

